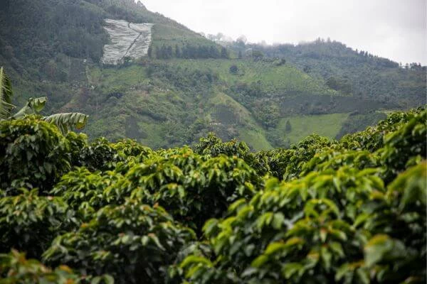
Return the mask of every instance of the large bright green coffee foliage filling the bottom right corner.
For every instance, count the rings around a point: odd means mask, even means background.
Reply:
[[[346,167],[270,180],[227,219],[206,222],[214,261],[188,256],[181,268],[191,283],[425,280],[425,195],[426,164],[389,190],[376,170]]]

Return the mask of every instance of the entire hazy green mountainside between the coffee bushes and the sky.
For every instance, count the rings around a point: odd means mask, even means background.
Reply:
[[[342,136],[425,103],[425,70],[338,43],[224,48],[131,0],[5,3],[0,65],[15,103],[48,96],[46,112],[89,114],[90,138],[167,148],[214,131],[260,150]]]

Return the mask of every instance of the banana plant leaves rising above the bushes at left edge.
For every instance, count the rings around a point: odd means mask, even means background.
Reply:
[[[16,107],[11,103],[12,96],[11,80],[4,72],[4,68],[0,68],[0,121],[6,119],[22,119],[30,114],[38,114],[46,105],[47,97],[30,98],[26,104],[16,114],[12,115],[11,111]],[[72,129],[83,129],[88,122],[86,114],[78,112],[70,112],[63,114],[53,114],[51,116],[43,116],[43,120],[58,126],[62,133],[67,133]]]

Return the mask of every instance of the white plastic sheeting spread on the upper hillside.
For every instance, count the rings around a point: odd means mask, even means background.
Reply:
[[[129,23],[107,18],[105,30],[110,34],[111,44],[104,46],[102,62],[117,65],[125,57],[131,59],[147,55],[152,36],[152,23]]]

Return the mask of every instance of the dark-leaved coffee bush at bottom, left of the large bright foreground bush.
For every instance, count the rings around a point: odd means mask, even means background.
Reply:
[[[162,207],[129,200],[100,209],[90,222],[56,238],[43,258],[90,273],[109,273],[117,283],[163,283],[166,266],[195,239]]]

